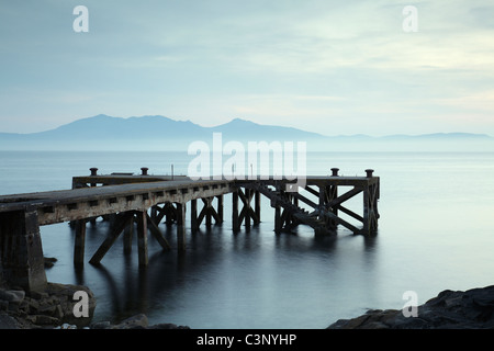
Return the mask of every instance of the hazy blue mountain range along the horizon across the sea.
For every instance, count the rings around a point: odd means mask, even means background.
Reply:
[[[439,150],[494,151],[494,138],[485,134],[436,133],[423,135],[363,134],[326,136],[292,127],[261,125],[234,118],[214,127],[159,115],[112,117],[100,114],[46,132],[0,133],[0,150],[187,150],[194,140],[211,145],[213,133],[222,141],[305,141],[307,150]]]

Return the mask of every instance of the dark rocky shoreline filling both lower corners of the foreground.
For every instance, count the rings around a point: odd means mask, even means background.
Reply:
[[[89,317],[74,315],[74,294],[87,293]],[[0,329],[189,329],[175,324],[149,325],[139,314],[117,324],[91,322],[93,293],[83,285],[48,283],[44,292],[0,290]],[[494,285],[468,291],[446,290],[417,306],[416,316],[401,309],[371,309],[351,319],[339,319],[327,329],[494,329]]]

